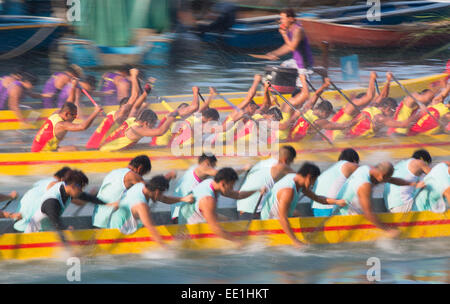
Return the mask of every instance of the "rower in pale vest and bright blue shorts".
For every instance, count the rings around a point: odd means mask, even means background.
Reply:
[[[355,150],[342,150],[338,162],[325,170],[317,178],[313,192],[317,195],[336,198],[347,179],[358,169],[359,155]],[[314,216],[331,216],[335,210],[333,205],[324,205],[311,201]]]

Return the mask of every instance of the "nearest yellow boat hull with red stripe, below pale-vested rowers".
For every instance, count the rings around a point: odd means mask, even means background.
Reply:
[[[385,213],[379,219],[401,231],[400,239],[450,236],[450,211],[443,214],[424,212]],[[309,244],[370,242],[383,237],[383,232],[362,215],[290,218],[299,240]],[[254,220],[248,230],[247,221],[223,222],[222,226],[247,244],[286,246],[291,244],[277,220]],[[165,242],[177,250],[223,250],[232,248],[229,241],[217,237],[207,224],[157,226]],[[86,256],[145,254],[158,248],[141,228],[132,235],[117,229],[66,231],[73,248]],[[66,254],[67,255],[67,254]],[[8,233],[0,236],[0,260],[62,258],[63,247],[54,232],[29,234]]]

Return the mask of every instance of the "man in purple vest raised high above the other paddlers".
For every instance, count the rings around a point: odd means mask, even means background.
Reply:
[[[279,60],[281,56],[292,53],[292,59],[283,62],[281,66],[295,68],[299,74],[305,74],[314,65],[314,59],[308,37],[301,22],[295,18],[293,9],[287,8],[281,11],[279,32],[283,37],[284,44],[265,55],[254,55],[254,57]]]

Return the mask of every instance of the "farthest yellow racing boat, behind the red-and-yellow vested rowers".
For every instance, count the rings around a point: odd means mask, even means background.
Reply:
[[[437,87],[440,85],[440,81],[447,77],[447,74],[435,74],[415,79],[408,79],[408,80],[402,80],[400,81],[409,91],[411,92],[418,92],[426,88],[430,87]],[[382,88],[382,86],[381,86]],[[365,88],[355,88],[355,89],[348,89],[343,90],[343,92],[351,97],[356,96],[357,94],[366,91]],[[237,92],[237,93],[223,93],[222,95],[226,96],[233,104],[238,104],[242,101],[242,98],[246,95],[244,92]],[[261,95],[261,94],[259,94]],[[205,95],[206,96],[206,95]],[[323,93],[322,95],[324,98],[332,102],[335,107],[340,107],[345,104],[344,98],[337,92],[337,91],[327,91]],[[390,96],[393,98],[400,98],[404,96],[404,92],[402,89],[396,84],[392,83],[390,88]],[[286,96],[288,97],[288,96]],[[171,105],[172,108],[176,108],[178,104],[181,102],[190,102],[192,100],[191,95],[178,95],[178,96],[168,96],[166,97],[167,101]],[[262,97],[257,96],[255,98],[256,102],[261,102]],[[157,99],[150,100],[151,105],[150,108],[154,110],[159,117],[162,117],[163,115],[166,115],[168,113],[168,110],[158,102]],[[282,102],[280,100],[280,102]],[[220,112],[229,112],[232,110],[232,108],[223,100],[221,99],[215,99],[211,103],[211,107],[216,108]],[[116,109],[117,107],[114,106],[107,106],[105,107],[105,112],[112,111]],[[93,108],[84,108],[83,112],[85,114],[91,113]],[[24,117],[27,117],[31,119],[32,121],[35,121],[34,126],[36,128],[40,127],[46,118],[50,116],[55,111],[58,111],[58,109],[27,109],[23,111]],[[98,122],[97,122],[98,123]],[[94,123],[95,124],[95,123]],[[14,112],[9,110],[3,110],[0,111],[0,131],[2,130],[23,130],[25,127],[18,121],[16,115]]]

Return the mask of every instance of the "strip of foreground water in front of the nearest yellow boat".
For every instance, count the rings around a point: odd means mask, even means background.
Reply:
[[[81,283],[367,283],[367,260],[380,260],[380,283],[450,283],[450,240],[386,244],[253,246],[240,251],[156,252],[81,260]],[[65,260],[2,262],[0,283],[68,283]]]

